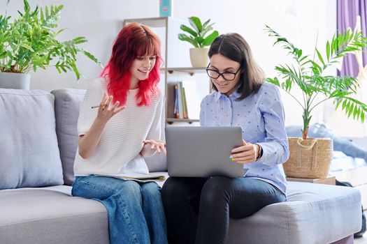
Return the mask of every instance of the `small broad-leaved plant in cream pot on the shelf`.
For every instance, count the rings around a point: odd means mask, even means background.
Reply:
[[[180,25],[180,29],[189,34],[180,33],[178,39],[191,43],[194,48],[190,48],[190,61],[192,67],[206,67],[208,64],[208,46],[213,43],[213,40],[219,35],[218,31],[213,31],[209,34],[209,31],[213,30],[213,24],[210,24],[210,19],[204,24],[201,24],[199,17],[189,17],[189,24],[192,26]]]

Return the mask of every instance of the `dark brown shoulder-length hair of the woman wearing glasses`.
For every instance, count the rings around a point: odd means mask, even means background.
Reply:
[[[222,34],[215,38],[209,49],[209,58],[221,54],[227,59],[240,63],[240,80],[237,92],[241,94],[237,100],[243,100],[252,93],[259,91],[264,83],[264,71],[257,65],[252,57],[250,45],[238,33]],[[213,86],[215,91],[217,88]]]

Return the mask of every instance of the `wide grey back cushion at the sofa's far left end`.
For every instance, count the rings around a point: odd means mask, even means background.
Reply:
[[[54,96],[0,89],[0,189],[62,185]]]

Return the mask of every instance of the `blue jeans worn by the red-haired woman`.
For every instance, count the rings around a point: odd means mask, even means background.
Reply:
[[[161,188],[102,176],[75,178],[71,194],[100,201],[107,208],[110,244],[167,243]]]

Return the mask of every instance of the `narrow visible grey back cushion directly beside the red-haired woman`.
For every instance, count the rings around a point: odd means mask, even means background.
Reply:
[[[59,142],[62,170],[66,185],[74,181],[74,159],[78,148],[78,116],[85,90],[59,89],[51,91],[55,96],[56,133]]]

